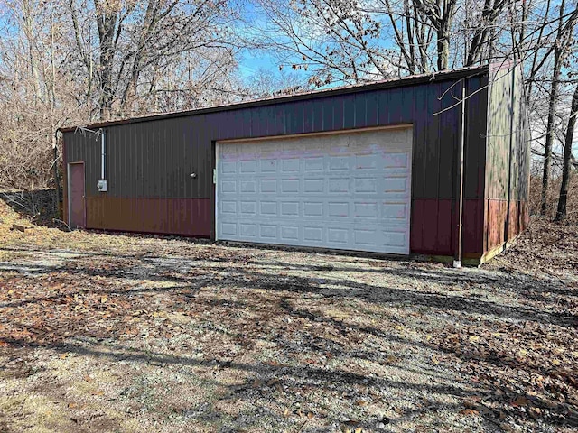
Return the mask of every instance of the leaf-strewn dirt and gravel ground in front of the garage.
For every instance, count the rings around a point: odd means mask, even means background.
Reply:
[[[576,226],[454,270],[16,220],[2,432],[578,427]]]

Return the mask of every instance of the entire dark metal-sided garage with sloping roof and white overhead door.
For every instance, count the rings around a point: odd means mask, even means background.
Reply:
[[[476,264],[527,225],[510,64],[61,133],[73,227]]]

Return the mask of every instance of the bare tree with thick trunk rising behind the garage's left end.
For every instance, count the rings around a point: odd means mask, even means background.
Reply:
[[[146,97],[163,88],[168,78],[163,72],[174,73],[187,56],[220,61],[223,75],[235,65],[227,28],[235,13],[225,0],[68,0],[68,5],[79,60],[87,81],[96,78],[98,84],[101,119],[134,115],[139,91]],[[88,97],[91,91],[89,86]]]

